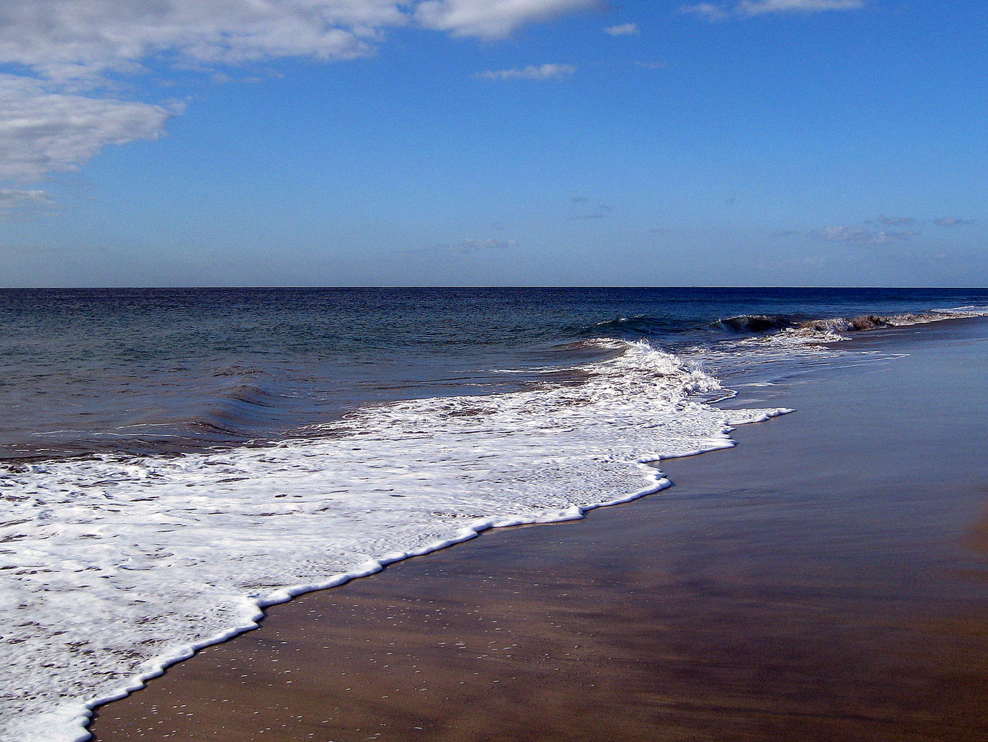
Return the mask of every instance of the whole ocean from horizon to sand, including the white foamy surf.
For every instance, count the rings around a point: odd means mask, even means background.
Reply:
[[[988,289],[0,290],[0,740],[265,606],[657,492]],[[850,340],[850,342],[849,342]],[[739,394],[740,392],[740,394]],[[839,401],[839,400],[837,400]]]

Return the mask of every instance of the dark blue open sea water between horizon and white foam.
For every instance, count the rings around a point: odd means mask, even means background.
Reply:
[[[985,304],[986,289],[6,289],[0,459],[278,440],[374,400],[541,383],[613,351],[580,345],[595,338],[744,354],[730,341],[809,320]]]

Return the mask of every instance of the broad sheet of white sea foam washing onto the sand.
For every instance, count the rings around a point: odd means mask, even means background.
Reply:
[[[606,341],[612,345],[617,341]],[[579,518],[732,446],[712,377],[645,344],[579,383],[375,406],[326,437],[0,475],[0,740],[87,737],[89,709],[260,608],[496,526]]]

